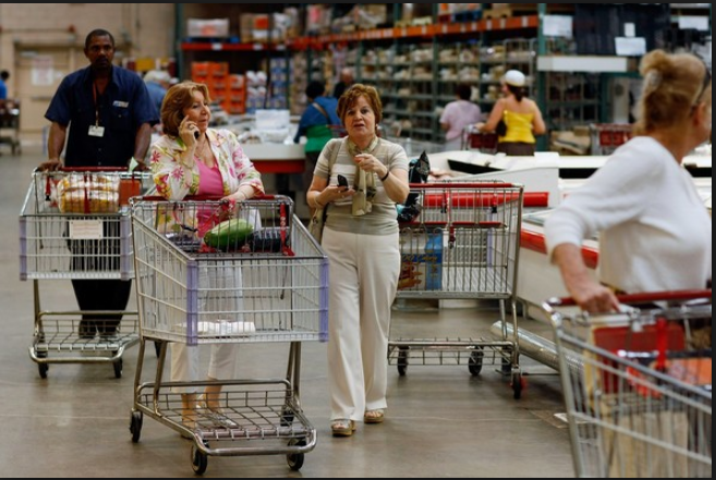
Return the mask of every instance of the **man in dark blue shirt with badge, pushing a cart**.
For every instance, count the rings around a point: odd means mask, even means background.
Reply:
[[[62,165],[128,168],[132,158],[136,158],[139,168],[144,168],[142,159],[149,147],[151,127],[159,120],[144,82],[136,73],[112,65],[114,37],[105,29],[94,29],[87,35],[84,52],[89,67],[62,80],[45,113],[52,124],[47,145],[48,161],[39,168],[57,170]],[[62,161],[60,155],[65,137],[66,153]],[[119,230],[119,223],[102,224],[106,239],[120,237],[116,231]],[[88,249],[82,242],[71,242],[75,253],[73,267],[86,269],[86,259],[82,256],[88,253],[85,252]],[[114,260],[118,259],[112,257],[112,262]],[[119,265],[112,264],[111,267],[118,268]],[[132,281],[73,279],[72,286],[83,311],[123,311]],[[83,314],[80,337],[92,339],[99,333],[111,338],[121,319],[121,314],[102,316],[102,320]]]

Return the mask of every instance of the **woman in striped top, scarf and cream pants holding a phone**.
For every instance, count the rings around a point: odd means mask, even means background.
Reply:
[[[377,136],[383,106],[374,87],[350,87],[338,116],[348,136],[328,142],[318,157],[307,203],[328,212],[321,245],[330,278],[331,430],[350,436],[355,420],[380,423],[387,407],[386,352],[400,273],[396,204],[408,197],[408,156]],[[339,175],[351,187],[338,187]]]

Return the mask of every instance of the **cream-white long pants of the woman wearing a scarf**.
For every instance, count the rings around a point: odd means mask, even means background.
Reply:
[[[331,419],[386,408],[390,309],[400,274],[398,233],[326,228],[329,259],[328,385]]]

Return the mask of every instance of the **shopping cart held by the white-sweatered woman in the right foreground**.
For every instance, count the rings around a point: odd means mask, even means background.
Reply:
[[[592,316],[544,303],[579,477],[712,477],[711,298],[622,296]]]

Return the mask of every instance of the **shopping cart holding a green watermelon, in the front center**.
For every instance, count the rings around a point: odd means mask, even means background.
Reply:
[[[224,225],[239,225],[222,236]],[[316,445],[300,403],[301,343],[326,341],[328,260],[293,214],[289,197],[245,202],[133,199],[132,227],[139,304],[139,360],[130,430],[144,416],[194,440],[192,467],[207,456],[286,454],[299,470]],[[208,230],[208,231],[207,231]],[[218,233],[218,236],[217,236]],[[151,382],[142,380],[145,343],[161,344]],[[286,377],[165,381],[167,343],[290,343]],[[172,387],[222,386],[224,421],[199,407],[182,417]],[[184,412],[185,413],[185,412]],[[239,442],[235,447],[229,442]]]

